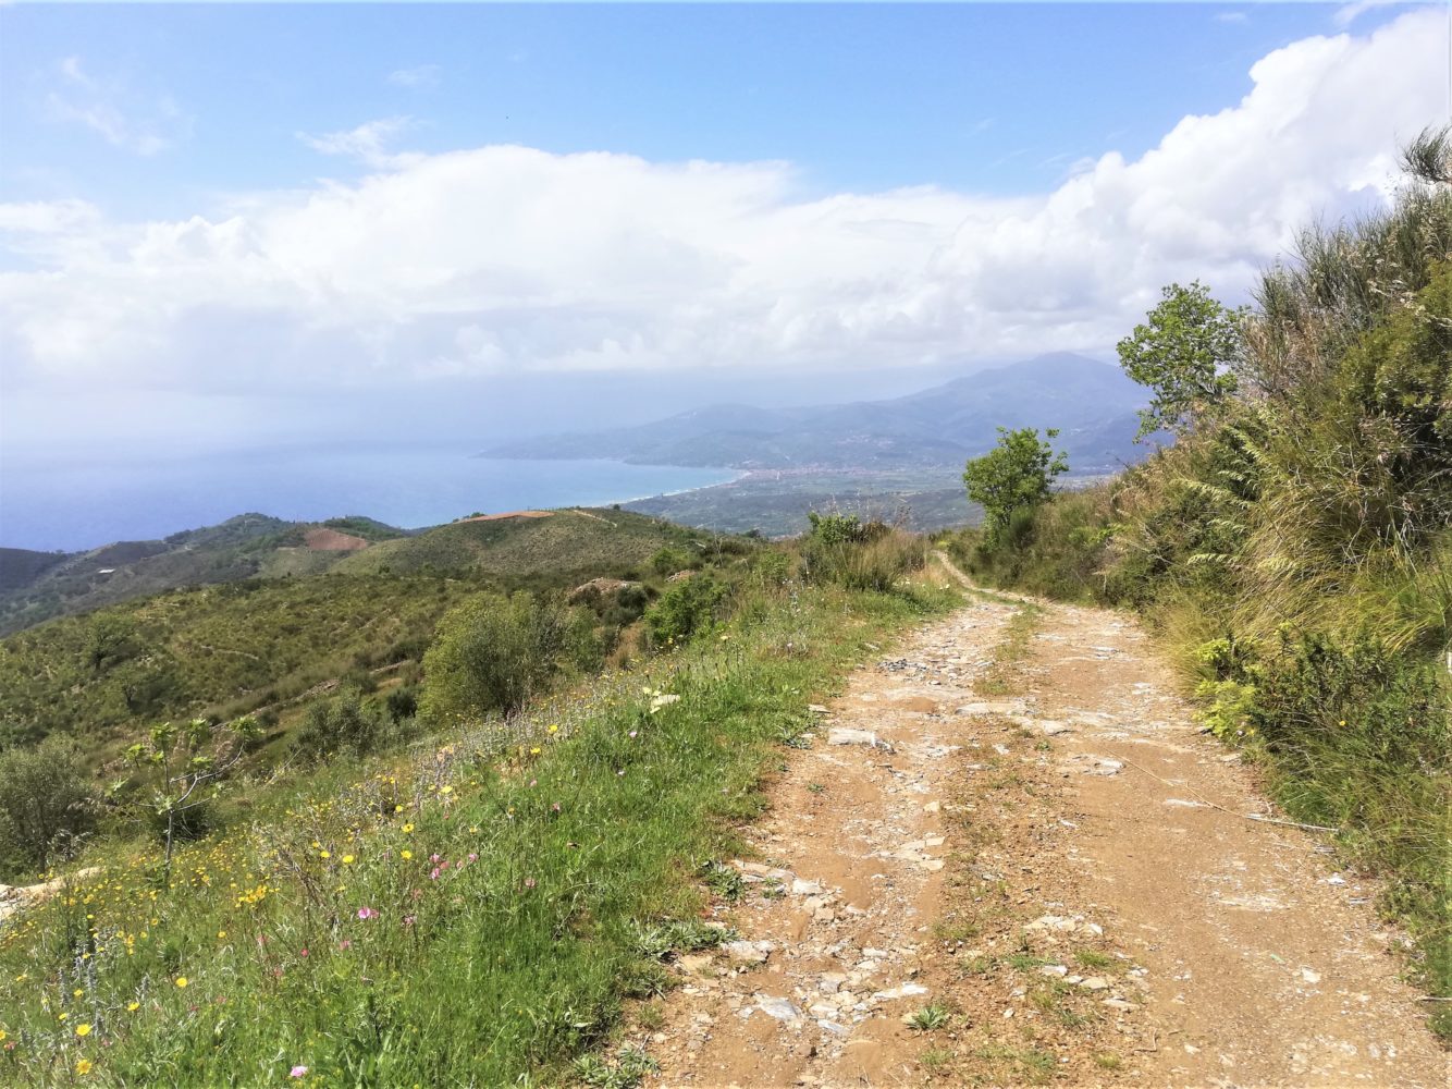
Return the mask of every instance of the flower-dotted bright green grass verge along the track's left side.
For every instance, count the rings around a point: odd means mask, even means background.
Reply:
[[[96,876],[0,937],[0,1077],[636,1083],[642,1057],[598,1047],[664,990],[662,958],[727,937],[697,876],[759,812],[783,729],[950,600],[783,594],[584,700],[256,790],[253,820],[182,849],[170,884],[150,848],[97,848]],[[643,687],[681,698],[652,713]]]

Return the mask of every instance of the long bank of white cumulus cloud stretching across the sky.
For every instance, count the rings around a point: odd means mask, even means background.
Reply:
[[[1440,28],[1413,12],[1294,42],[1241,102],[1013,199],[809,199],[784,163],[398,154],[407,121],[386,119],[306,138],[366,176],[231,213],[9,206],[25,267],[0,273],[6,380],[366,388],[1106,351],[1160,285],[1199,277],[1239,301],[1308,218],[1385,200],[1398,142],[1439,116]]]

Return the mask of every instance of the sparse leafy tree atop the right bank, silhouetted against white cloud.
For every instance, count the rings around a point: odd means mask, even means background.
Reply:
[[[1124,373],[1149,386],[1154,399],[1140,411],[1144,439],[1160,428],[1183,433],[1236,392],[1230,367],[1240,357],[1244,308],[1231,311],[1195,280],[1172,283],[1147,321],[1118,344]]]

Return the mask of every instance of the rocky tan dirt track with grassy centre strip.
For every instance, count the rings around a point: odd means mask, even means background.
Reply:
[[[1247,819],[1127,617],[971,595],[820,717],[653,1085],[1448,1083],[1374,890]]]

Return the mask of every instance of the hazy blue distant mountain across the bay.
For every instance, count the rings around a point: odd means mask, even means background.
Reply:
[[[484,457],[613,457],[637,465],[733,469],[961,466],[999,427],[1057,427],[1074,472],[1137,460],[1144,389],[1118,367],[1040,356],[890,401],[768,409],[710,405],[637,427],[526,439]]]

